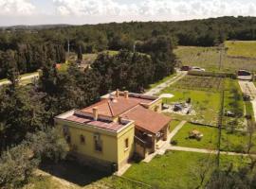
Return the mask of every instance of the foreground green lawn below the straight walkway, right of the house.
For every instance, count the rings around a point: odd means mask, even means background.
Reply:
[[[229,163],[234,166],[247,163],[247,158],[221,155],[221,167]],[[135,163],[124,177],[146,182],[155,188],[196,188],[199,174],[208,170],[208,177],[214,167],[215,155],[194,152],[167,152],[156,156],[150,163]],[[206,180],[207,181],[207,180]]]

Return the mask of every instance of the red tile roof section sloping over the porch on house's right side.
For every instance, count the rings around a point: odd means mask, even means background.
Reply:
[[[161,113],[153,112],[138,105],[136,108],[121,115],[122,118],[135,121],[136,127],[157,133],[163,129],[171,118]]]

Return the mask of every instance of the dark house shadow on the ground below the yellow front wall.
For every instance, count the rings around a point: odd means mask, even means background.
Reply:
[[[43,163],[39,167],[46,173],[60,179],[67,180],[80,186],[86,186],[104,177],[111,176],[110,173],[105,173],[96,170],[92,166],[85,166],[74,161],[62,161],[60,163]]]

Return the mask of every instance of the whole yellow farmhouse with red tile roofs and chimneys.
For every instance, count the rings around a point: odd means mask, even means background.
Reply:
[[[55,124],[78,161],[116,171],[167,140],[171,118],[161,110],[161,98],[117,90],[90,107],[56,116]]]

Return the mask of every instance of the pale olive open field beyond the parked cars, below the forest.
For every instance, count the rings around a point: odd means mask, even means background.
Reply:
[[[207,71],[219,71],[219,47],[178,46],[174,53],[183,65],[199,66],[206,68]],[[239,69],[256,71],[256,60],[230,57],[225,51],[222,60],[220,67],[223,72],[233,73]]]

